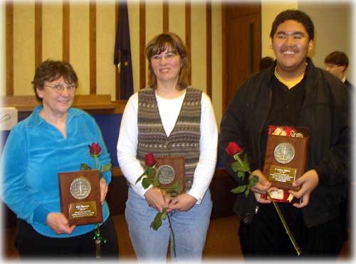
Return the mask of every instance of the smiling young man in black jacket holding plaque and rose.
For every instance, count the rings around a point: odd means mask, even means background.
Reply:
[[[241,248],[245,257],[297,255],[273,204],[261,198],[271,188],[262,171],[268,125],[308,127],[305,173],[293,183],[299,191],[290,191],[301,202],[278,205],[302,255],[335,258],[342,245],[338,208],[352,177],[349,95],[339,80],[308,58],[314,26],[305,13],[281,12],[270,36],[276,62],[241,85],[221,120],[219,155],[224,167],[236,174],[231,169],[234,159],[225,152],[229,142],[236,142],[248,155],[251,175],[258,176],[247,197],[236,196]]]

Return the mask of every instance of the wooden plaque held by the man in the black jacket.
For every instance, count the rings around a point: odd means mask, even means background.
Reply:
[[[303,137],[268,134],[263,174],[272,182],[272,186],[278,188],[278,191],[271,192],[274,201],[297,201],[288,190],[298,191],[298,187],[292,186],[293,181],[305,172],[309,137],[308,130],[300,130],[303,131]]]

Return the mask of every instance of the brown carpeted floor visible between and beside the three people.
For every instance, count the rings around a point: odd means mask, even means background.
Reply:
[[[125,216],[112,216],[119,238],[119,254],[121,261],[136,260],[135,252],[132,248],[129,233],[127,230],[127,223]],[[239,227],[239,217],[230,216],[226,218],[215,218],[210,221],[208,235],[206,237],[206,244],[203,253],[204,261],[221,262],[234,261],[241,262],[243,260],[241,248],[239,243],[239,236],[237,230]],[[14,248],[14,234],[15,228],[7,228],[3,238],[3,257],[4,260],[19,260],[19,255]],[[340,253],[340,262],[351,260],[351,242],[350,240],[344,243],[342,252]],[[219,260],[219,261],[218,261]]]

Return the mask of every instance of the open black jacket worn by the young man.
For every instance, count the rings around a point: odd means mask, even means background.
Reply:
[[[246,80],[221,120],[219,155],[233,176],[231,162],[234,160],[225,152],[229,142],[237,142],[244,148],[251,171],[263,170],[261,131],[271,107],[271,76],[275,67],[276,62]],[[310,58],[305,78],[305,99],[295,126],[310,129],[306,170],[316,169],[319,176],[319,185],[310,194],[308,206],[301,209],[305,224],[310,227],[338,216],[338,204],[345,198],[347,183],[352,178],[347,102],[350,95],[337,78],[315,68]],[[245,194],[238,194],[234,211],[244,223],[250,223],[256,205],[252,192],[247,198]]]

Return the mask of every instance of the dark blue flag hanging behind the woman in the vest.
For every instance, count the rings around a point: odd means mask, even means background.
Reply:
[[[132,60],[127,1],[119,1],[119,21],[116,28],[114,64],[120,69],[120,100],[133,94]]]

